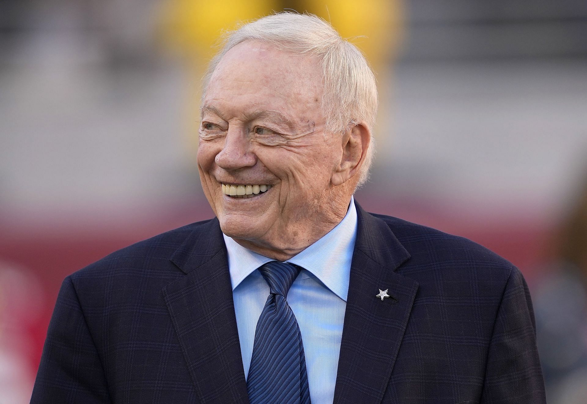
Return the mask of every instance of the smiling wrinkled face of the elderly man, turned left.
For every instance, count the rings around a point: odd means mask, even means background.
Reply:
[[[204,97],[198,170],[225,234],[275,247],[328,225],[342,144],[325,132],[321,99],[315,59],[259,42],[222,58]]]

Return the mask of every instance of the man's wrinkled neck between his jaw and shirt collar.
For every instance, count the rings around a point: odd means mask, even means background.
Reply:
[[[316,217],[302,218],[296,221],[294,228],[279,230],[275,233],[280,237],[266,237],[262,240],[245,240],[234,238],[238,244],[248,250],[257,252],[277,261],[286,261],[299,254],[310,245],[316,243],[345,218],[348,211],[350,196],[333,200],[328,210]]]

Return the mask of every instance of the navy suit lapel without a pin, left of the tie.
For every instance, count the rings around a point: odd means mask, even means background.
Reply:
[[[248,403],[218,220],[193,231],[171,261],[185,276],[167,285],[163,294],[200,401]]]

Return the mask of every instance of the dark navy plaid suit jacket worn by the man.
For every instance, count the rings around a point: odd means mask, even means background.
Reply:
[[[461,237],[357,215],[335,402],[545,403],[517,268]],[[218,220],[69,275],[31,402],[247,403]]]

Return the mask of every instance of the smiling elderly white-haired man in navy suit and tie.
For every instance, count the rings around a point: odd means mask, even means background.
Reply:
[[[520,272],[353,200],[377,108],[355,46],[268,16],[204,84],[216,218],[66,278],[33,403],[544,403]]]

